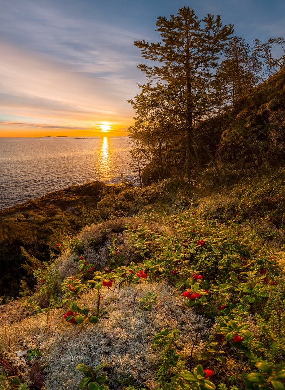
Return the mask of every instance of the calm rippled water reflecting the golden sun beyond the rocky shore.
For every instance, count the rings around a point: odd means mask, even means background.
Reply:
[[[119,183],[128,166],[127,137],[0,138],[0,209],[72,184]]]

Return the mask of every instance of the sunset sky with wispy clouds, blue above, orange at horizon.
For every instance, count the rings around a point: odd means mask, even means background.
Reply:
[[[285,37],[284,0],[0,0],[0,137],[127,135],[134,40],[160,41],[157,17],[184,5],[251,45]]]

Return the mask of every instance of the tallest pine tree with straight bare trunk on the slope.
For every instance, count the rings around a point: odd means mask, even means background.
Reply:
[[[195,85],[209,80],[209,71],[217,66],[218,55],[232,34],[233,26],[222,26],[219,15],[214,19],[213,15],[208,14],[199,20],[189,7],[180,8],[177,16],[171,15],[169,20],[159,17],[156,25],[162,42],[148,43],[143,40],[135,41],[134,45],[141,49],[143,58],[157,61],[160,66],[141,64],[138,67],[148,77],[184,88],[185,171],[186,177],[190,179],[193,167],[193,126],[195,121],[203,117],[199,110],[203,96],[201,99],[201,89],[196,89]]]

